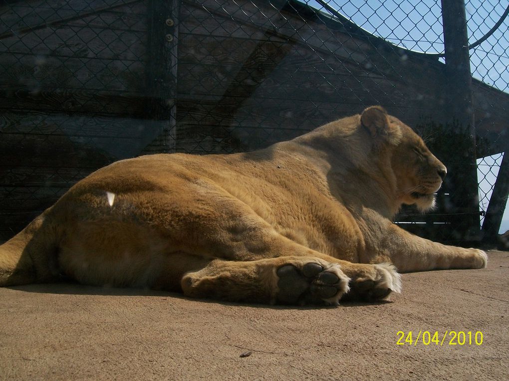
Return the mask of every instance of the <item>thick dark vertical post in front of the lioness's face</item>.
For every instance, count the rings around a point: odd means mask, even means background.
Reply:
[[[465,244],[480,239],[472,75],[464,0],[441,0],[445,46],[446,126],[456,136],[447,162],[451,234]],[[461,139],[461,140],[460,140]]]

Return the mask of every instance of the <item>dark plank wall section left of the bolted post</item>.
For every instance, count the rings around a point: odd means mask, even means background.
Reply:
[[[139,155],[146,119],[143,1],[0,5],[0,240],[66,189]]]

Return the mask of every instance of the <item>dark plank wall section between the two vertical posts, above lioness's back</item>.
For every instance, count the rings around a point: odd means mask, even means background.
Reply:
[[[304,20],[285,2],[183,4],[179,151],[255,149],[372,104],[409,123],[439,113],[442,73],[427,57]]]

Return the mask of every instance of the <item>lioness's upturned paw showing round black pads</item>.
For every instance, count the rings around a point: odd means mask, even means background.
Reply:
[[[335,263],[292,263],[276,272],[277,301],[282,304],[337,305],[348,291],[348,278]]]

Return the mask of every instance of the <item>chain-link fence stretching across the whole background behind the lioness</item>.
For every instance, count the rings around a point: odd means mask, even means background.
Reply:
[[[505,11],[466,9],[471,40]],[[255,150],[372,104],[431,136],[439,158],[450,149],[437,136],[448,79],[433,1],[7,0],[0,16],[0,241],[112,161]],[[479,165],[490,185],[477,220],[507,150],[507,28],[471,50],[477,157],[498,155]],[[452,191],[434,215],[399,222],[465,241],[437,228],[458,212]]]

